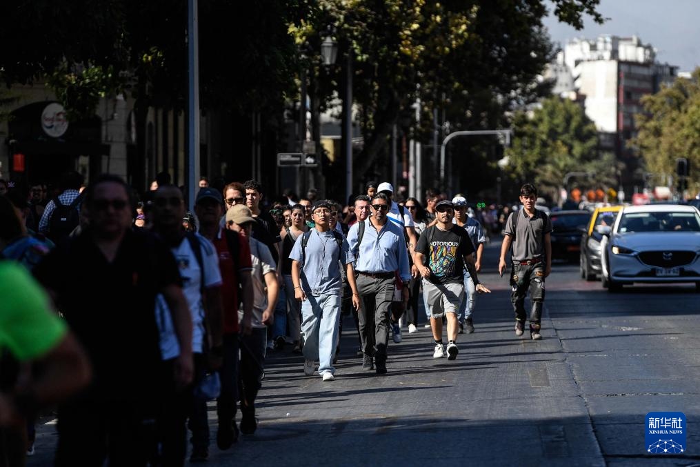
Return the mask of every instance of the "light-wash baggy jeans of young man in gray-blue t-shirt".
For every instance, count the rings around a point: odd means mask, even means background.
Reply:
[[[302,302],[304,358],[318,360],[318,374],[335,373],[333,356],[339,337],[340,294],[307,295]]]

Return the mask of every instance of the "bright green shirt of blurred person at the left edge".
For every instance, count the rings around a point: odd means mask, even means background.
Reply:
[[[0,262],[0,348],[19,361],[40,358],[66,335],[66,324],[48,306],[48,296],[18,263]]]

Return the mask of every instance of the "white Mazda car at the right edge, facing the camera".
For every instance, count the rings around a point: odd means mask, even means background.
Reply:
[[[700,211],[680,204],[622,208],[601,242],[603,287],[694,283],[700,291]]]

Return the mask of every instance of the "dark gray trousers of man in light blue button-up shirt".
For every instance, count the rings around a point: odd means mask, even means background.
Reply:
[[[374,279],[364,274],[357,277],[357,288],[362,298],[358,313],[362,351],[367,355],[386,356],[389,342],[389,309],[394,293],[394,279]]]

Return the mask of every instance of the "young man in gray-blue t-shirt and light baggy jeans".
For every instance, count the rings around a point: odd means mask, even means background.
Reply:
[[[347,240],[330,228],[331,209],[335,206],[325,200],[314,204],[311,211],[314,228],[297,237],[289,255],[294,294],[302,302],[304,375],[314,374],[314,361],[318,360],[318,374],[323,381],[335,379],[332,362],[339,339],[340,263],[346,267],[353,306],[360,309],[352,266],[355,258],[349,251]]]

